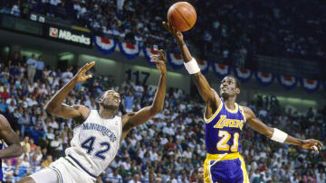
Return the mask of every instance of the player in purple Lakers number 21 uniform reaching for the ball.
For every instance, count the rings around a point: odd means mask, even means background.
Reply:
[[[194,79],[199,94],[206,102],[204,114],[206,128],[206,160],[204,163],[205,182],[249,182],[245,160],[241,151],[241,134],[245,124],[276,142],[286,142],[312,151],[321,150],[321,142],[300,140],[277,128],[271,128],[258,120],[253,111],[235,103],[240,94],[239,82],[233,76],[222,79],[219,95],[211,88],[201,74],[196,59],[192,58],[183,40],[182,32],[176,31],[169,23],[163,23],[175,39],[185,61],[185,67]]]

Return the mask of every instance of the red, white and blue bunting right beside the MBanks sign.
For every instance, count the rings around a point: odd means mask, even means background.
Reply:
[[[100,36],[94,36],[94,43],[97,50],[100,50],[103,55],[112,53],[117,45],[116,41]]]

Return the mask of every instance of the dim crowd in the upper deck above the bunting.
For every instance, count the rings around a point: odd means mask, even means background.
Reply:
[[[96,35],[177,50],[161,25],[169,5],[156,0],[2,0],[0,13],[46,14],[80,23]],[[322,1],[190,0],[197,24],[187,41],[203,59],[242,59],[252,54],[298,59],[326,58],[326,4]],[[204,46],[202,46],[204,45]]]

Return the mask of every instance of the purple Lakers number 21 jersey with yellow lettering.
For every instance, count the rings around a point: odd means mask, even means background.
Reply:
[[[206,151],[210,154],[223,154],[241,151],[241,134],[245,125],[242,106],[235,103],[235,110],[228,109],[221,99],[216,113],[205,119]]]

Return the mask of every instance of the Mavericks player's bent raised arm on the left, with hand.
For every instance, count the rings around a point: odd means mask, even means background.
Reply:
[[[63,100],[72,91],[77,83],[91,78],[91,75],[86,75],[86,72],[95,65],[95,61],[85,64],[77,74],[62,87],[45,105],[45,110],[50,113],[63,118],[82,117],[85,119],[90,112],[90,109],[83,105],[66,105]]]

